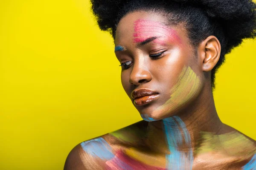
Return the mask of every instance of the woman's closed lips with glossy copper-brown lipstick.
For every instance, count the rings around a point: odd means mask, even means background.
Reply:
[[[134,99],[135,105],[145,105],[153,101],[154,99],[157,99],[159,97],[159,94],[156,91],[151,91],[149,89],[143,88],[133,91],[131,93],[131,97]]]

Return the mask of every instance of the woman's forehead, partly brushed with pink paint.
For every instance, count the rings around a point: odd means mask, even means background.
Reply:
[[[180,39],[174,26],[167,26],[163,14],[151,11],[135,11],[126,14],[116,27],[115,44],[143,42],[149,37],[170,37]],[[180,32],[181,33],[181,32]]]

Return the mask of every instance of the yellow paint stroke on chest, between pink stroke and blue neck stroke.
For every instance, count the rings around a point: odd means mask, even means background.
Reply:
[[[136,148],[128,148],[125,151],[125,154],[130,156],[133,159],[136,159],[137,161],[140,161],[144,164],[155,166],[155,167],[163,167],[165,168],[166,164],[166,156],[159,155],[159,154],[149,154],[146,152],[142,152],[140,150],[137,150]]]

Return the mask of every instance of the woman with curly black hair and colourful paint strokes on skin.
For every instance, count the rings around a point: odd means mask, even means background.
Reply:
[[[256,170],[256,141],[221,122],[225,54],[256,37],[251,0],[91,0],[145,121],[78,144],[65,170]]]

